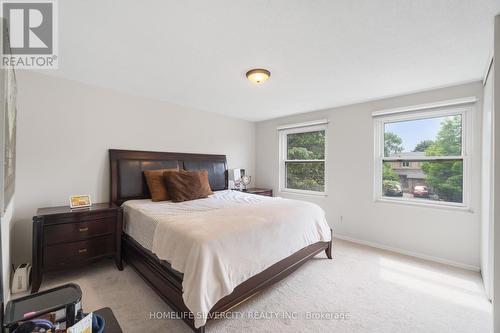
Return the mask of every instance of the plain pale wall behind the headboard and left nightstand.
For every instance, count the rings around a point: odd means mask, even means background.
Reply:
[[[226,154],[254,175],[255,125],[218,114],[18,71],[15,263],[31,259],[38,207],[71,194],[108,201],[109,148]]]

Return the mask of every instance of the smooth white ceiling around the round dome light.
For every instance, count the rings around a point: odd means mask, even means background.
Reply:
[[[479,80],[500,12],[500,0],[58,3],[48,74],[252,121]],[[247,81],[254,67],[270,80]]]

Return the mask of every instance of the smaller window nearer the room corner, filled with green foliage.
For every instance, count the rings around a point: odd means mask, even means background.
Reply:
[[[326,121],[279,128],[280,190],[325,194]]]

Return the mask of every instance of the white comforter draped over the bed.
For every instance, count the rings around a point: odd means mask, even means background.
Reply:
[[[162,213],[152,211],[152,252],[184,274],[183,299],[196,327],[245,280],[310,244],[331,240],[324,211],[305,201],[220,191],[163,207]]]

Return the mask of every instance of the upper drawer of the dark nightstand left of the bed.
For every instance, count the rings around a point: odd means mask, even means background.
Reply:
[[[45,245],[84,240],[94,236],[114,233],[116,217],[79,223],[53,224],[45,227]]]

